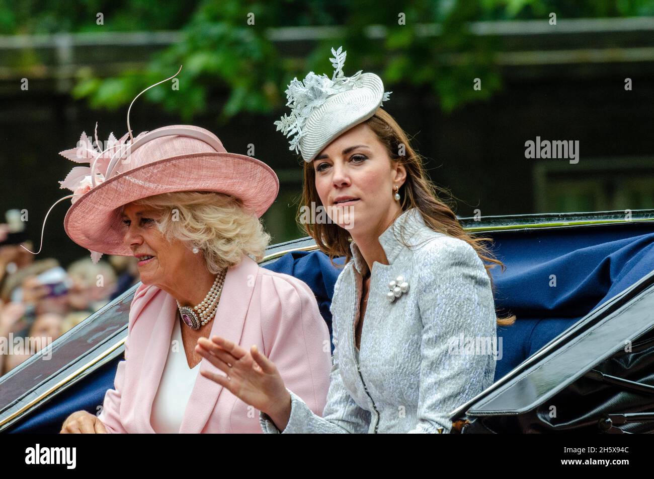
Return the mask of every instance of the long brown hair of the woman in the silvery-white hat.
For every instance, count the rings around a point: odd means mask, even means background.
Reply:
[[[400,188],[402,196],[402,211],[411,208],[419,209],[422,219],[432,230],[447,234],[453,238],[466,241],[475,249],[479,258],[484,264],[486,272],[490,278],[490,285],[494,291],[494,283],[490,268],[501,266],[502,271],[506,270],[504,264],[493,257],[486,243],[492,243],[492,238],[475,238],[466,233],[461,224],[458,222],[453,209],[439,199],[439,194],[446,193],[438,186],[434,185],[428,178],[426,171],[422,166],[422,157],[411,148],[407,134],[400,128],[400,125],[385,110],[377,109],[375,115],[371,116],[364,122],[368,125],[381,143],[386,146],[388,155],[392,161],[401,162],[407,172],[406,181]],[[404,154],[400,155],[399,152]],[[322,205],[320,197],[316,190],[315,170],[312,162],[304,163],[304,185],[302,187],[302,205],[316,206]],[[302,207],[300,207],[302,208]],[[301,211],[301,209],[300,209]],[[298,223],[301,223],[307,234],[311,236],[316,245],[329,255],[332,262],[334,258],[344,256],[347,263],[352,253],[350,250],[351,236],[347,230],[337,226],[333,222],[301,222],[300,211],[298,211]],[[508,326],[515,323],[515,315],[497,318],[498,325]]]

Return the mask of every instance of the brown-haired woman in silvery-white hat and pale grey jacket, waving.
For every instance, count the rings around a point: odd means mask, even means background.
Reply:
[[[198,351],[228,374],[207,377],[262,411],[268,433],[449,432],[449,413],[492,384],[496,325],[515,320],[496,317],[483,260],[501,262],[436,196],[421,158],[380,108],[388,99],[381,79],[344,77],[345,52],[332,54],[332,79],[294,79],[292,113],[276,122],[305,160],[303,207],[324,207],[333,221],[309,222],[307,232],[330,257],[346,257],[332,299],[323,416],[258,348],[215,338],[199,340]]]

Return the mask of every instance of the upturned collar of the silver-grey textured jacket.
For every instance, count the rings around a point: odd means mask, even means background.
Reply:
[[[417,208],[407,209],[407,211],[404,211],[402,215],[398,216],[397,219],[386,228],[386,230],[379,236],[379,243],[384,249],[384,253],[386,253],[388,264],[393,264],[395,258],[397,258],[402,249],[405,248],[402,241],[409,243],[411,238],[413,238],[423,228],[428,228],[428,226],[425,224],[420,210]],[[368,272],[368,264],[354,241],[350,243],[350,251],[352,251],[354,268],[356,268],[360,274],[366,274]]]

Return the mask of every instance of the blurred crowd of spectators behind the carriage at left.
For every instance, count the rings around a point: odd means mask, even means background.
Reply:
[[[133,257],[94,264],[86,255],[63,268],[21,245],[35,251],[21,224],[0,223],[0,376],[139,281]],[[41,346],[12,347],[16,342]]]

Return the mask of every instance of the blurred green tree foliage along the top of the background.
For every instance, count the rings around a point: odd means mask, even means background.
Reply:
[[[144,95],[190,120],[207,99],[228,92],[221,120],[240,112],[268,114],[286,103],[284,88],[310,69],[331,73],[330,48],[348,51],[345,74],[375,71],[387,90],[396,84],[423,88],[444,111],[480,101],[502,88],[494,63],[497,39],[473,35],[470,22],[654,14],[652,0],[0,0],[0,33],[44,34],[179,30],[179,43],[154,54],[147,69],[98,78],[81,69],[73,96],[92,107],[114,109],[146,86],[170,77],[179,65],[179,91],[152,88]],[[254,24],[249,24],[254,20]],[[404,20],[404,24],[402,24]],[[342,27],[337,35],[325,27]],[[271,39],[278,27],[315,27],[305,41]],[[434,31],[434,27],[438,31]],[[318,31],[320,29],[320,31]],[[432,30],[430,30],[432,29]],[[312,31],[309,29],[309,31]],[[316,39],[318,38],[318,39]],[[481,79],[481,90],[473,88]]]

